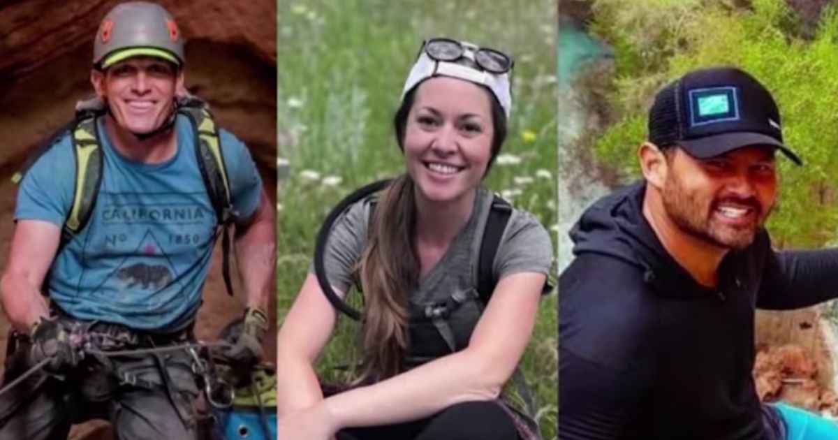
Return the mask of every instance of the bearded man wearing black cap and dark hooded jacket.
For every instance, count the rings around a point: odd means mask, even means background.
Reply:
[[[800,163],[773,97],[742,70],[696,70],[655,96],[644,181],[571,231],[559,438],[838,438],[815,414],[764,405],[754,386],[754,309],[838,297],[838,252],[771,247],[778,150]]]

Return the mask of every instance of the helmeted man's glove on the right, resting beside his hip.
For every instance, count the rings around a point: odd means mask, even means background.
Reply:
[[[260,308],[245,308],[244,318],[228,324],[221,340],[230,344],[219,350],[221,360],[230,365],[256,365],[262,359],[262,340],[267,331],[267,315]]]

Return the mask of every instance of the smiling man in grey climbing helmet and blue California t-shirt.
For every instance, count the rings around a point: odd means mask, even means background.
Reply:
[[[161,6],[107,13],[91,83],[95,98],[16,176],[0,299],[17,336],[3,384],[34,375],[0,388],[0,438],[63,438],[93,417],[120,438],[194,438],[195,375],[209,373],[184,346],[215,241],[230,291],[235,248],[247,304],[218,355],[252,365],[267,328],[272,205],[246,146],[187,94],[183,36]]]

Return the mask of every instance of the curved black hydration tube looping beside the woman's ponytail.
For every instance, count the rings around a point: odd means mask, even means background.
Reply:
[[[338,294],[334,292],[332,285],[328,282],[326,264],[323,261],[323,254],[326,251],[326,243],[328,242],[328,236],[332,231],[332,226],[334,225],[334,222],[339,219],[340,215],[343,215],[344,211],[352,204],[358,203],[369,197],[371,194],[375,194],[380,190],[385,189],[387,185],[391,184],[391,182],[391,179],[373,182],[372,184],[355,189],[352,194],[349,194],[346,198],[341,200],[334,208],[332,208],[331,211],[329,211],[326,216],[326,220],[323,220],[323,225],[320,226],[320,230],[318,231],[317,243],[314,246],[314,274],[317,276],[320,289],[323,290],[323,294],[326,295],[326,299],[328,299],[329,303],[332,303],[334,308],[338,309],[340,313],[344,313],[346,316],[353,318],[356,321],[361,320],[362,314],[360,310],[353,308],[348,303],[345,303],[344,300],[342,300]]]

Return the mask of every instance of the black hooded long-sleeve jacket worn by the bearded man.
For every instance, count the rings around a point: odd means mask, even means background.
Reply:
[[[571,231],[559,280],[561,440],[781,440],[758,400],[754,309],[838,297],[838,250],[782,251],[761,230],[698,284],[642,215],[644,184],[600,199]]]

